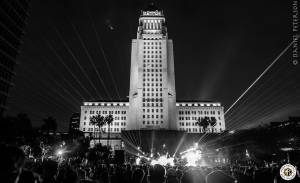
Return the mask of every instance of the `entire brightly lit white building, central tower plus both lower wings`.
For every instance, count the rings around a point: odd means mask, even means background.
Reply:
[[[216,125],[208,132],[225,130],[224,110],[219,102],[177,101],[173,42],[168,38],[163,11],[155,7],[141,12],[137,38],[131,45],[129,101],[84,102],[81,106],[80,130],[99,132],[90,125],[93,115],[114,116],[114,122],[103,132],[158,129],[203,133],[197,126],[200,118],[214,117]]]

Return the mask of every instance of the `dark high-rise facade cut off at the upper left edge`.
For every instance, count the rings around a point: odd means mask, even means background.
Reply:
[[[7,109],[9,88],[28,18],[28,0],[0,1],[0,116]]]

